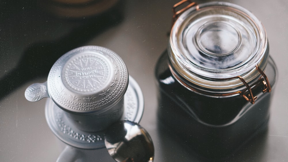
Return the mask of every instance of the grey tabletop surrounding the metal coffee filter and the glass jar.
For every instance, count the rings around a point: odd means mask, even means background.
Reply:
[[[0,161],[56,161],[62,151],[44,113],[45,100],[24,97],[32,83],[47,80],[54,62],[71,49],[99,45],[116,52],[145,98],[140,124],[155,146],[155,160],[202,161],[188,144],[161,133],[154,68],[168,44],[177,0],[26,0],[0,2]],[[209,1],[196,1],[204,3]],[[288,160],[288,1],[244,0],[266,28],[278,83],[269,129],[227,161]],[[179,125],[182,126],[182,125]]]

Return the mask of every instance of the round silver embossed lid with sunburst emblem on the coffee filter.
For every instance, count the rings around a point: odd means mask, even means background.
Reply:
[[[128,86],[128,70],[110,49],[84,46],[67,52],[52,66],[48,92],[70,113],[99,114],[117,104]]]

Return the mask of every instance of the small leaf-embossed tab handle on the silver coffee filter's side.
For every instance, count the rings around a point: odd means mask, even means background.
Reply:
[[[31,102],[39,101],[45,97],[50,97],[47,90],[47,81],[45,83],[34,83],[25,91],[25,98]]]

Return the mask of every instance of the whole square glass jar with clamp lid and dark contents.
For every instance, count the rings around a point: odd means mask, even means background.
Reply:
[[[155,71],[158,117],[203,156],[228,156],[267,128],[277,69],[266,31],[232,3],[191,3],[174,13]]]

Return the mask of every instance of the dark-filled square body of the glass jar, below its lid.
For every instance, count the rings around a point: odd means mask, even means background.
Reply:
[[[253,94],[258,97],[255,104],[240,95],[223,98],[200,95],[181,85],[168,64],[165,51],[156,65],[158,117],[171,130],[171,136],[176,133],[204,157],[219,158],[231,155],[266,130],[271,93],[262,93],[262,87],[254,89]],[[272,75],[275,79],[276,72]]]

